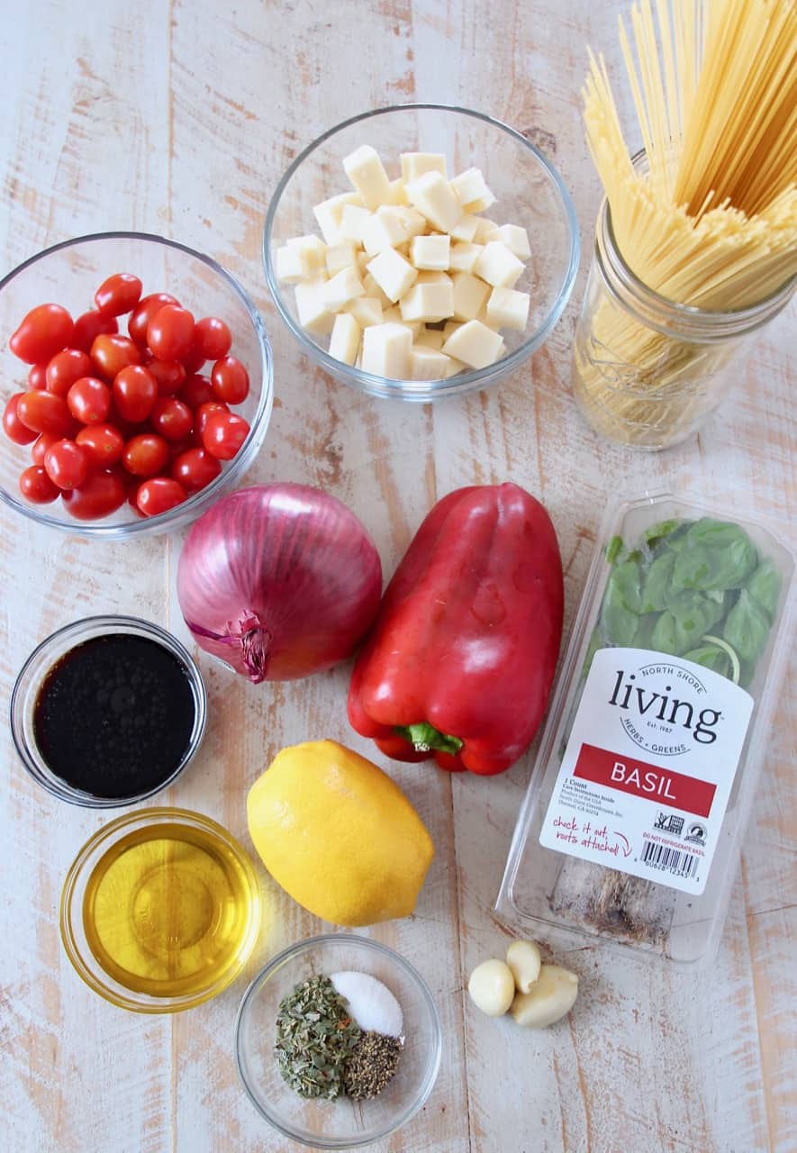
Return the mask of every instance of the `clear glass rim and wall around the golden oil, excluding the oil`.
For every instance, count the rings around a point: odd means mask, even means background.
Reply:
[[[216,854],[223,856],[228,861],[232,860],[234,862],[236,871],[243,875],[246,887],[250,894],[247,906],[248,915],[234,957],[220,978],[203,989],[172,997],[152,996],[148,993],[136,992],[115,980],[103,969],[95,957],[83,924],[83,903],[87,886],[104,854],[121,841],[122,837],[135,834],[141,829],[157,829],[160,824],[167,824],[172,828],[176,824],[210,837]],[[100,997],[104,997],[105,1001],[110,1001],[111,1004],[118,1005],[120,1009],[129,1009],[131,1012],[180,1012],[183,1009],[193,1009],[195,1005],[203,1004],[205,1001],[210,1001],[211,997],[217,996],[240,975],[257,942],[260,926],[260,886],[257,874],[247,852],[216,821],[211,821],[209,816],[204,816],[202,813],[191,813],[185,808],[148,808],[136,813],[126,813],[101,829],[98,829],[87,841],[73,861],[61,892],[61,942],[77,975],[85,981],[90,989]]]

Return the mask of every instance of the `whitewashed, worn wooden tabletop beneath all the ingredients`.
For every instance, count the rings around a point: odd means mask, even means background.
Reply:
[[[81,233],[141,228],[208,251],[261,307],[276,407],[249,480],[306,481],[347,502],[390,574],[434,500],[514,480],[551,512],[570,619],[607,500],[667,485],[780,520],[795,502],[794,311],[764,332],[697,440],[649,457],[600,442],[569,385],[569,349],[600,198],[579,99],[586,44],[617,63],[616,2],[586,0],[31,0],[5,14],[2,269]],[[303,360],[266,297],[261,227],[273,186],[318,131],[370,106],[442,100],[527,131],[559,166],[582,226],[574,299],[513,379],[431,407],[374,401]],[[3,382],[3,389],[6,389]],[[96,612],[179,628],[179,540],[97,545],[0,513],[7,694],[30,649]],[[248,843],[248,785],[287,744],[332,737],[373,755],[345,717],[349,668],[251,686],[201,658],[211,724],[170,800]],[[5,707],[5,706],[3,706]],[[569,1022],[521,1033],[476,1013],[464,985],[501,954],[491,912],[529,768],[496,779],[390,766],[437,857],[414,918],[373,929],[431,986],[445,1043],[422,1113],[384,1150],[459,1153],[753,1153],[797,1148],[795,701],[787,678],[715,967],[682,977],[585,947]],[[232,1024],[246,980],[175,1017],[93,996],[63,956],[60,887],[106,816],[37,789],[5,737],[0,790],[0,1150],[275,1151],[288,1143],[236,1082]],[[384,760],[379,763],[385,764]],[[264,876],[272,910],[250,975],[322,928]]]

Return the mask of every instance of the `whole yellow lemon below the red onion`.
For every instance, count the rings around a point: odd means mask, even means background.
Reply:
[[[336,925],[407,917],[435,856],[398,785],[334,740],[278,753],[249,790],[247,820],[275,881]]]

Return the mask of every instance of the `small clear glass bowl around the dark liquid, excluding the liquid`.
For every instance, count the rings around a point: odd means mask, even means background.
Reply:
[[[183,665],[194,698],[194,726],[188,747],[174,771],[153,789],[123,798],[95,797],[92,793],[83,792],[81,789],[74,789],[66,781],[62,781],[61,777],[55,776],[42,758],[33,734],[36,700],[44,678],[55,662],[84,641],[91,640],[95,636],[106,636],[115,633],[144,636],[148,640],[157,641],[165,649],[168,649]],[[37,784],[46,789],[53,797],[58,797],[59,800],[66,800],[69,805],[80,805],[83,808],[122,808],[127,805],[136,805],[138,801],[146,800],[148,797],[153,797],[161,790],[168,789],[189,761],[191,761],[202,744],[206,717],[208,693],[200,676],[200,670],[188,649],[164,628],[148,620],[140,620],[137,617],[87,617],[52,633],[33,649],[23,664],[16,678],[10,702],[12,738],[28,773]]]

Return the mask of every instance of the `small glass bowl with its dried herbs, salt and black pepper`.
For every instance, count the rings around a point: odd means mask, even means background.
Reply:
[[[280,952],[243,995],[235,1061],[255,1108],[316,1148],[369,1145],[423,1106],[442,1030],[420,974],[378,941],[311,937]]]

